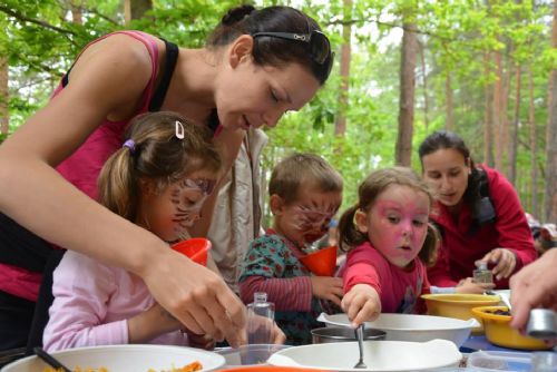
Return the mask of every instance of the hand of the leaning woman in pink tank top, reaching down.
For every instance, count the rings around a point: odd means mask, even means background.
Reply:
[[[231,346],[245,340],[245,307],[225,282],[208,268],[172,249],[157,252],[138,272],[160,305],[196,334]]]

